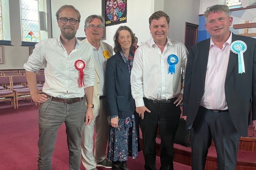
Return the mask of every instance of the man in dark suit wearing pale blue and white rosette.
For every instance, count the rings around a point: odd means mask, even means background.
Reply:
[[[210,6],[204,16],[211,38],[189,51],[183,96],[192,170],[204,170],[212,139],[218,170],[234,170],[251,107],[256,130],[256,39],[229,31],[233,18],[226,5]]]

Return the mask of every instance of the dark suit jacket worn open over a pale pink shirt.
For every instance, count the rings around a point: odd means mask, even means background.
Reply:
[[[228,110],[241,136],[247,136],[248,117],[252,106],[252,119],[256,119],[256,39],[232,35],[232,42],[242,40],[247,45],[243,53],[245,73],[238,73],[238,54],[230,51],[225,96]],[[192,46],[184,80],[183,115],[187,116],[187,128],[195,120],[205,88],[210,39]]]

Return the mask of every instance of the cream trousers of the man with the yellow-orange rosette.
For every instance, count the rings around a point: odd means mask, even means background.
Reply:
[[[109,139],[110,118],[107,112],[106,98],[99,100],[97,112],[89,125],[83,125],[81,154],[85,169],[96,168],[96,164],[106,158],[106,149]],[[94,126],[96,131],[95,149],[93,152]]]

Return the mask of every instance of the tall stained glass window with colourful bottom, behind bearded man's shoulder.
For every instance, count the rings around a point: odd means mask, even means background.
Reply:
[[[39,19],[38,19],[38,1],[21,1],[21,24],[22,40],[38,43],[39,39]]]

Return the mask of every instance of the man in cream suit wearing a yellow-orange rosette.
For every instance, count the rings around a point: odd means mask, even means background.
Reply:
[[[109,116],[107,113],[105,94],[105,69],[107,59],[113,55],[112,47],[101,41],[105,20],[102,16],[91,15],[85,19],[83,41],[93,46],[95,58],[95,86],[93,90],[94,119],[82,128],[82,164],[89,170],[97,170],[96,166],[112,168],[106,159],[106,148],[109,138]],[[96,127],[95,150],[93,152],[94,126]]]

